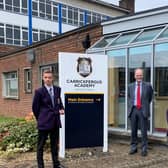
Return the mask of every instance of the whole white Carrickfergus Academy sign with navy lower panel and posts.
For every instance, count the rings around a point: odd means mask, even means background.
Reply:
[[[65,148],[102,146],[107,151],[107,56],[59,53],[59,84],[65,105],[60,156]]]

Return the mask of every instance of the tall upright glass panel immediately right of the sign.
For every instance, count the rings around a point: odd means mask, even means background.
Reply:
[[[125,128],[126,49],[108,51],[109,126]]]

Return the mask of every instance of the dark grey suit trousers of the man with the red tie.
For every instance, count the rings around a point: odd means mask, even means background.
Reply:
[[[136,107],[133,108],[131,117],[131,149],[137,149],[138,144],[138,126],[140,126],[141,137],[142,137],[142,150],[147,151],[147,125],[148,119],[143,116],[142,110],[138,110]]]

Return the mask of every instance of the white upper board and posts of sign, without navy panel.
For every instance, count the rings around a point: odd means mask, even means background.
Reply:
[[[79,58],[87,58],[89,65],[78,67]],[[59,85],[64,103],[65,93],[104,94],[103,152],[108,151],[108,60],[107,55],[59,52]],[[89,73],[90,70],[90,73]],[[72,79],[72,80],[71,80]],[[82,85],[81,81],[92,81],[93,85]],[[87,82],[87,81],[86,81]],[[65,157],[65,115],[61,116],[59,156]]]

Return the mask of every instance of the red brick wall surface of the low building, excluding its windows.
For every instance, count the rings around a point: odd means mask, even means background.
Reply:
[[[90,35],[91,45],[102,36],[102,27],[100,25],[94,27],[86,27],[65,33],[59,38],[50,40],[47,43],[34,45],[35,62],[29,63],[26,52],[20,51],[17,54],[0,58],[0,73],[18,70],[19,76],[19,99],[6,99],[2,96],[2,75],[0,76],[0,115],[25,117],[31,112],[32,97],[34,89],[40,86],[39,82],[39,66],[57,62],[58,52],[80,52],[84,49],[82,41],[86,35]],[[31,67],[33,74],[33,93],[24,93],[24,68]]]

